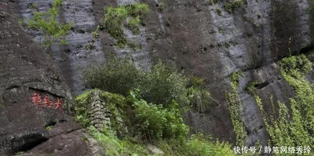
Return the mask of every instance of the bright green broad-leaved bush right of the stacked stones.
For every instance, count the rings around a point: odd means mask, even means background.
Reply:
[[[142,138],[156,140],[158,138],[183,138],[188,128],[183,124],[178,104],[173,101],[167,108],[162,105],[148,104],[145,100],[137,99],[139,90],[131,91],[128,100],[134,108],[133,125],[137,125]]]

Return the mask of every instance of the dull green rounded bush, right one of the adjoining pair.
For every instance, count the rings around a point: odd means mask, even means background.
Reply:
[[[176,100],[181,106],[186,106],[187,83],[188,78],[183,72],[159,62],[141,79],[138,89],[141,90],[142,98],[148,102],[167,105]]]

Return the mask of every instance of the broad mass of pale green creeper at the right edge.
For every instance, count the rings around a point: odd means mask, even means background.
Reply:
[[[304,56],[289,56],[279,62],[281,74],[288,84],[295,90],[295,97],[289,98],[290,109],[278,101],[278,111],[272,96],[270,102],[272,114],[267,115],[263,109],[261,99],[255,95],[260,108],[266,130],[271,137],[273,146],[307,147],[314,145],[314,90],[305,75],[309,73],[312,63]],[[287,156],[294,156],[292,154]]]

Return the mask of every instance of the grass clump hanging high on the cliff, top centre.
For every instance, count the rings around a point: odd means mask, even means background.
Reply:
[[[139,23],[148,12],[149,7],[144,3],[107,7],[103,19],[105,30],[117,40],[119,47],[124,48],[128,39],[123,29],[127,26],[134,34],[139,34]]]

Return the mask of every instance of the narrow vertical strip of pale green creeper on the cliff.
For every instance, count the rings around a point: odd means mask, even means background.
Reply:
[[[244,146],[245,134],[244,134],[244,121],[242,117],[241,101],[237,92],[239,85],[239,78],[242,75],[241,71],[231,74],[231,92],[226,91],[226,99],[229,104],[229,112],[231,121],[234,126],[236,135],[236,146]]]

